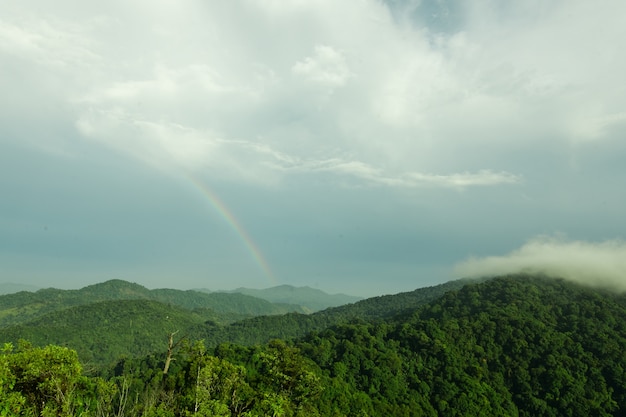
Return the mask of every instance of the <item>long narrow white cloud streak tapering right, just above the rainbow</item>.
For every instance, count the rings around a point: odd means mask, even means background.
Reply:
[[[490,170],[455,174],[414,171],[391,174],[358,160],[302,159],[262,142],[225,139],[209,131],[178,124],[135,119],[119,109],[92,111],[83,115],[76,127],[84,136],[131,153],[159,169],[208,171],[237,181],[276,184],[281,177],[294,172],[308,175],[329,173],[351,179],[357,186],[399,188],[464,189],[522,181],[518,175]]]

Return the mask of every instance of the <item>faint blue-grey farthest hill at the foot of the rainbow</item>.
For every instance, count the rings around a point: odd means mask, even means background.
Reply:
[[[262,298],[272,303],[297,304],[309,309],[311,312],[324,310],[328,307],[337,307],[344,304],[355,303],[362,297],[346,294],[327,294],[324,291],[311,287],[294,287],[291,285],[279,285],[277,287],[256,290],[251,288],[237,288],[232,292],[251,295]]]

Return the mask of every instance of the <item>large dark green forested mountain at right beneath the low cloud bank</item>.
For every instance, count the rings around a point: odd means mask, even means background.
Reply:
[[[297,346],[356,390],[365,415],[624,415],[626,298],[563,280],[469,284]],[[332,391],[325,401],[353,415],[348,394]]]

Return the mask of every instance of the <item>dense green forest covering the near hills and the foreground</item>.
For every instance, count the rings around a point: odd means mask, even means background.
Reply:
[[[136,328],[84,333],[70,326],[94,314],[83,305],[0,329],[0,416],[624,415],[626,297],[561,279],[453,281],[244,320],[89,305]],[[34,337],[46,325],[69,330]]]

